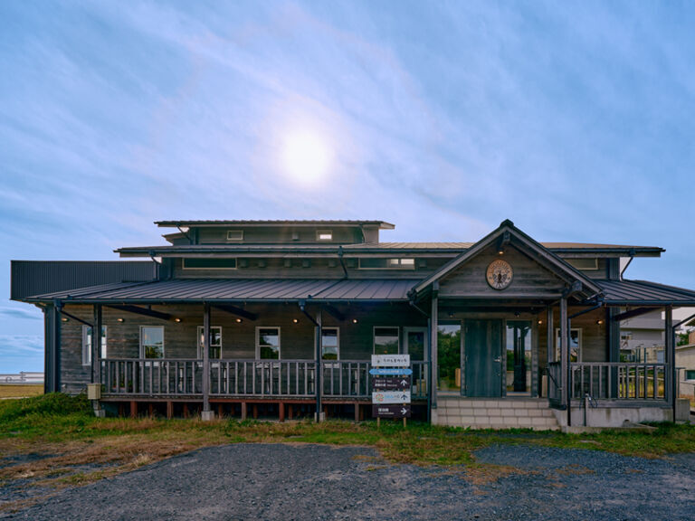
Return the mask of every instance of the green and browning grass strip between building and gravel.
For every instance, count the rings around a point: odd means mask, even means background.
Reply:
[[[480,483],[516,469],[482,465],[474,451],[492,444],[610,450],[657,458],[695,450],[695,426],[659,424],[652,432],[468,431],[412,422],[254,422],[95,418],[85,397],[46,394],[0,402],[0,487],[28,479],[49,489],[78,486],[201,447],[227,443],[323,443],[376,449],[370,467],[409,463],[448,467]],[[14,459],[14,461],[12,461]],[[0,459],[0,464],[2,464]],[[44,496],[45,497],[45,496]],[[40,500],[42,497],[39,497]],[[24,507],[7,503],[0,511]]]

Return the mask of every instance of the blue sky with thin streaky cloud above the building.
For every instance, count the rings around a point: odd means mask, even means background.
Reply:
[[[511,219],[661,246],[626,277],[695,289],[693,26],[647,0],[0,2],[0,373],[43,370],[11,259],[115,260],[156,220]]]

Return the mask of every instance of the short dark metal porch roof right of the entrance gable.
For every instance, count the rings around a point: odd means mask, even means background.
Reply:
[[[695,291],[647,280],[595,280],[610,305],[695,306]]]

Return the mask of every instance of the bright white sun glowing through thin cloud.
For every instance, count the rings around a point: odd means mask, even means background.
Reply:
[[[282,166],[293,180],[313,185],[328,174],[332,155],[328,142],[318,133],[298,130],[284,139]]]

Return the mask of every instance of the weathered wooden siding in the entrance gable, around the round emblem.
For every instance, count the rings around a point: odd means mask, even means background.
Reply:
[[[507,289],[490,288],[486,271],[490,262],[502,259],[509,262],[513,279]],[[532,261],[525,254],[508,246],[504,255],[499,255],[494,245],[465,262],[457,270],[440,281],[440,297],[536,297],[543,298],[560,293],[565,282],[554,273]]]

